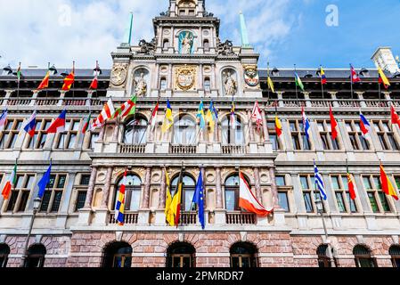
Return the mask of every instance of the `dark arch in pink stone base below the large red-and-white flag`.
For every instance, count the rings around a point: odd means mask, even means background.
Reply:
[[[249,242],[237,242],[230,249],[231,267],[257,267],[257,248]]]

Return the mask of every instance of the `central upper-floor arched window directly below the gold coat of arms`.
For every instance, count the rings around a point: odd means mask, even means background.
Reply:
[[[179,118],[174,124],[173,143],[191,145],[196,142],[196,122],[188,115]]]

